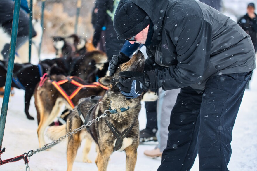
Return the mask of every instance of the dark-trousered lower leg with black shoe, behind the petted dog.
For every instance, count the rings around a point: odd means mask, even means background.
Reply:
[[[157,141],[157,113],[156,113],[157,101],[145,102],[146,111],[146,127],[140,131],[140,142]]]

